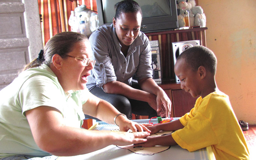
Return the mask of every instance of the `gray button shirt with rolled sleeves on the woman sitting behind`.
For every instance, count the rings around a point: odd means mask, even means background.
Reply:
[[[138,80],[152,78],[151,47],[148,37],[140,32],[130,45],[126,57],[121,52],[121,44],[113,25],[102,26],[89,38],[96,60],[94,69],[88,77],[87,87],[102,87],[104,84],[117,80],[131,85],[132,76]]]

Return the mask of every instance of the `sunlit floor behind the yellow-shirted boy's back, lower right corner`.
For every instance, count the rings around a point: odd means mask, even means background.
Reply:
[[[250,152],[250,160],[256,160],[256,125],[249,125],[249,130],[243,133]]]

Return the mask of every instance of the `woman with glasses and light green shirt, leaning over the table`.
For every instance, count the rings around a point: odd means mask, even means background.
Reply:
[[[146,141],[150,131],[145,126],[88,91],[94,64],[83,34],[63,32],[46,43],[38,58],[0,91],[1,160],[73,156]],[[84,114],[133,133],[81,129]]]

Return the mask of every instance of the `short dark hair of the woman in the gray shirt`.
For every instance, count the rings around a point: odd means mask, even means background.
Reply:
[[[115,19],[119,18],[121,13],[141,13],[142,16],[142,11],[141,7],[136,1],[133,0],[123,0],[115,4]]]

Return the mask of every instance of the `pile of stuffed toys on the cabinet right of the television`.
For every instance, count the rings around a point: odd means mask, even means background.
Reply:
[[[186,10],[189,12],[190,27],[206,26],[206,17],[204,14],[204,10],[201,6],[196,6],[195,0],[176,0],[176,2],[179,28],[185,27],[184,13]]]

